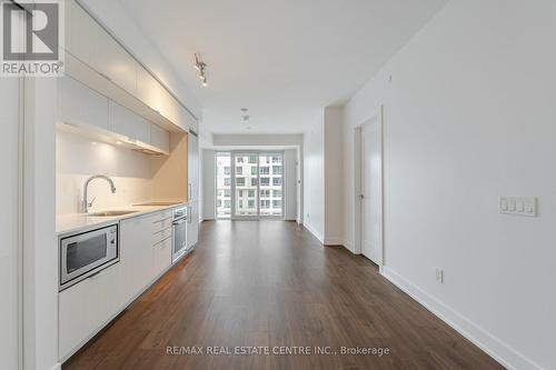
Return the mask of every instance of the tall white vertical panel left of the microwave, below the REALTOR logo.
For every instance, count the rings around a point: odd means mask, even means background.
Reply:
[[[59,366],[54,237],[57,79],[26,79],[24,96],[24,369],[50,370]]]

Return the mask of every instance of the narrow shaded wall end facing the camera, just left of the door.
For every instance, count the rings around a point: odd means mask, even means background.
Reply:
[[[325,108],[325,244],[327,246],[344,243],[342,116],[342,108]]]

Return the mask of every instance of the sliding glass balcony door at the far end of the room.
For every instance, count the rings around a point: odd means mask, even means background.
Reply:
[[[232,219],[284,216],[284,153],[217,153],[217,217]]]

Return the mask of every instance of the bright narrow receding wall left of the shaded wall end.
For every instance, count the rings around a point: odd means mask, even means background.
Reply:
[[[304,134],[304,226],[325,238],[325,130],[322,111]]]

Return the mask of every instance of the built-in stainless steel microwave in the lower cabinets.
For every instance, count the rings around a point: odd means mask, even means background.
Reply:
[[[61,237],[59,246],[62,291],[119,261],[118,224]]]

